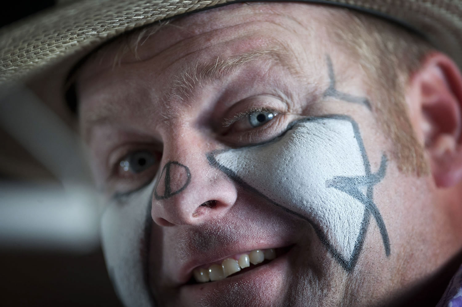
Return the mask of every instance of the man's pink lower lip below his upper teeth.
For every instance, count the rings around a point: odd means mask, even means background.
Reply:
[[[180,297],[183,302],[188,302],[189,305],[192,301],[203,300],[207,294],[213,294],[212,296],[214,297],[217,296],[217,293],[228,295],[229,293],[226,290],[231,285],[236,286],[242,283],[245,291],[264,291],[263,288],[269,279],[271,279],[272,283],[277,282],[278,279],[285,283],[293,250],[294,248],[292,247],[287,253],[268,262],[266,265],[258,266],[236,276],[226,277],[214,282],[184,285],[180,288]],[[252,285],[251,288],[249,284]]]

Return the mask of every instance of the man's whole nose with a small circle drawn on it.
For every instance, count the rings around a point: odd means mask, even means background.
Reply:
[[[170,138],[174,139],[174,138]],[[152,219],[160,226],[197,225],[224,215],[236,202],[231,180],[207,161],[199,140],[164,144],[152,195]]]

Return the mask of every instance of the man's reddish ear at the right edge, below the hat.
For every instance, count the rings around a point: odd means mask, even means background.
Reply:
[[[424,142],[437,187],[462,181],[462,76],[444,54],[430,54],[407,92],[414,126]]]

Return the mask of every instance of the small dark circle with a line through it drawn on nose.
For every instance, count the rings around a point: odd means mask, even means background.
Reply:
[[[186,189],[190,181],[191,172],[186,165],[169,161],[165,163],[154,188],[154,197],[158,200],[168,199]]]

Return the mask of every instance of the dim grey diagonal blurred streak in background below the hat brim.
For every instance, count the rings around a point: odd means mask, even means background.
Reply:
[[[16,85],[0,97],[0,126],[64,187],[90,184],[78,136],[29,89]],[[64,102],[63,102],[64,103]]]

